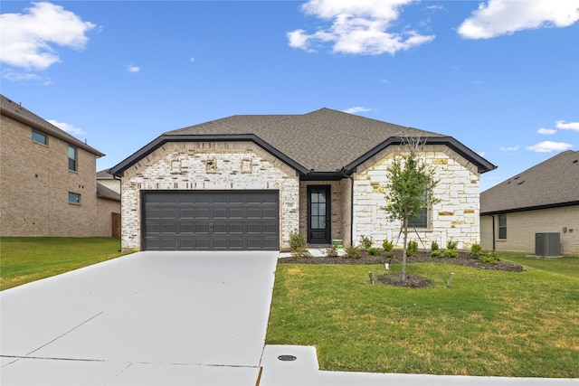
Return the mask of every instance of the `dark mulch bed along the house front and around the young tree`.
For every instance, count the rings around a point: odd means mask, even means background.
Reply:
[[[439,258],[431,258],[428,256],[427,252],[419,252],[418,257],[406,258],[406,263],[422,263],[422,262],[434,262],[434,263],[445,263],[445,264],[454,264],[458,266],[467,266],[473,268],[480,268],[480,269],[489,269],[489,270],[501,270],[501,271],[508,271],[508,272],[523,272],[525,268],[519,266],[518,264],[511,263],[508,261],[499,260],[497,264],[484,264],[479,261],[479,259],[474,259],[469,256],[466,252],[459,252],[459,257],[454,259],[439,259]],[[392,258],[386,258],[384,256],[372,256],[368,255],[365,252],[360,252],[359,259],[347,259],[342,257],[335,257],[330,258],[327,256],[318,257],[318,258],[306,258],[306,259],[295,259],[293,257],[289,258],[280,258],[278,259],[279,264],[402,264],[402,251],[394,251],[394,256]],[[401,275],[384,275],[378,277],[377,279],[386,285],[389,286],[397,286],[397,287],[429,287],[432,285],[432,281],[427,278],[422,278],[418,276],[411,276],[406,275],[406,280],[402,281]]]

